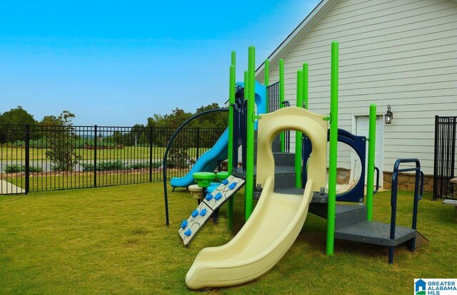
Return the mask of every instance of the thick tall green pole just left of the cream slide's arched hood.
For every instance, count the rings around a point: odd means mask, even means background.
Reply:
[[[251,216],[253,210],[254,192],[254,79],[256,71],[256,48],[249,46],[248,49],[248,110],[246,123],[246,196],[245,218]]]

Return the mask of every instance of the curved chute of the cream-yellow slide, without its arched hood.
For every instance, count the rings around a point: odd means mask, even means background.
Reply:
[[[228,244],[199,252],[186,275],[190,289],[234,286],[257,279],[292,246],[306,219],[312,180],[303,197],[273,192],[268,177],[256,210]]]

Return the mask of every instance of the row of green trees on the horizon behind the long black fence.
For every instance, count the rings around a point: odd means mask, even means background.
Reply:
[[[54,165],[54,171],[72,171],[74,166],[81,160],[76,153],[77,148],[124,148],[124,146],[149,146],[150,140],[153,145],[164,147],[174,130],[196,113],[214,108],[220,108],[217,103],[201,106],[195,113],[185,112],[181,108],[172,110],[171,114],[154,114],[147,118],[146,125],[135,124],[128,131],[116,130],[103,135],[81,135],[73,125],[75,115],[68,110],[63,110],[58,116],[45,115],[41,121],[24,110],[20,105],[0,114],[0,144],[12,147],[26,145],[24,125],[39,125],[42,128],[32,127],[29,131],[30,148],[46,148],[46,158]],[[226,112],[208,113],[196,120],[191,121],[189,128],[226,128],[228,115]],[[151,130],[159,130],[151,138]],[[172,145],[169,153],[169,167],[189,167],[193,159],[189,156],[189,148],[199,146],[208,147],[216,142],[219,134],[205,136],[200,141],[194,133],[181,133]]]

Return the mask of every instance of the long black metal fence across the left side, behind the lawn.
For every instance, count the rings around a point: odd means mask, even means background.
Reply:
[[[175,128],[0,125],[1,194],[162,180]],[[189,172],[224,128],[186,128],[171,147],[169,177]]]

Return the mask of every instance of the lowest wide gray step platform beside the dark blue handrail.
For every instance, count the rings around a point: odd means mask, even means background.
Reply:
[[[335,239],[376,244],[382,246],[397,246],[416,237],[416,229],[395,227],[395,239],[390,239],[391,224],[381,222],[360,222],[348,227],[336,229]]]

